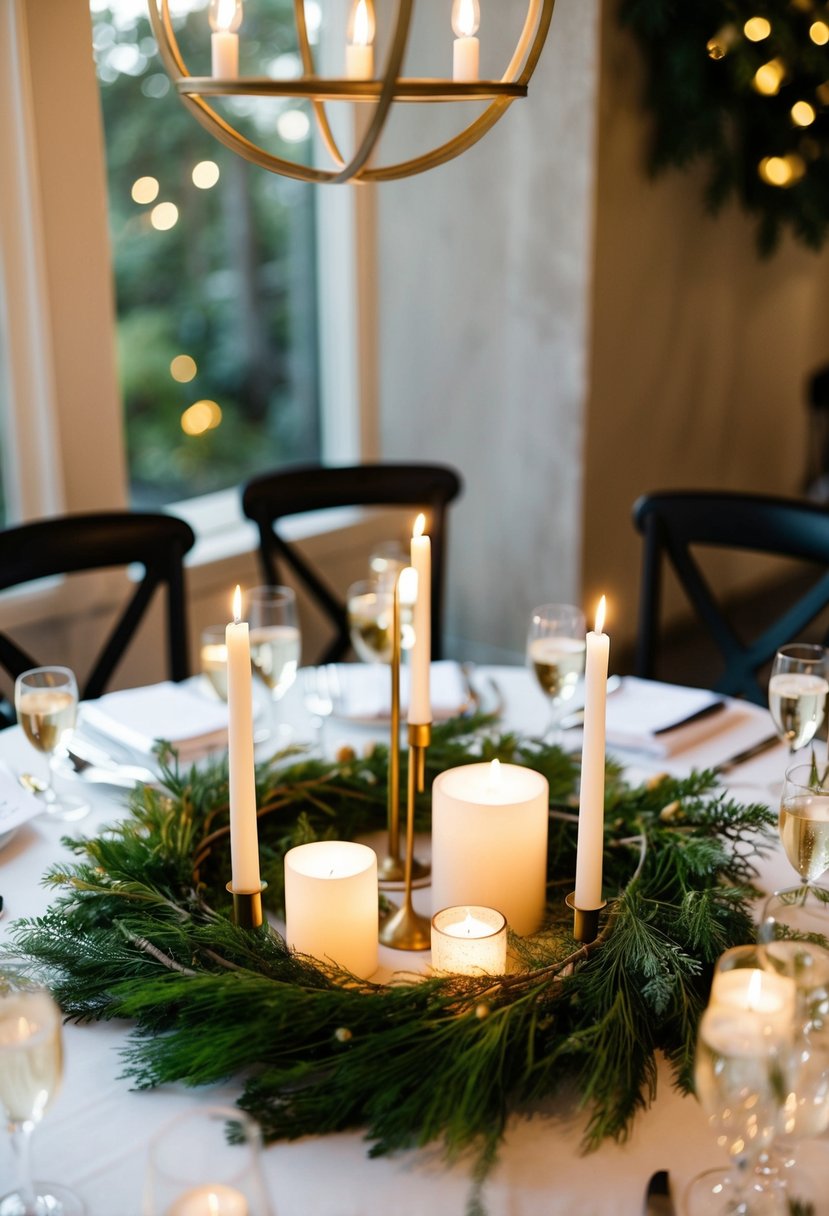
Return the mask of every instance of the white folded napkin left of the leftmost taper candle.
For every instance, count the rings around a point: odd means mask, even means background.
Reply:
[[[185,761],[227,747],[227,705],[169,680],[86,700],[83,721],[135,751],[165,739]]]

